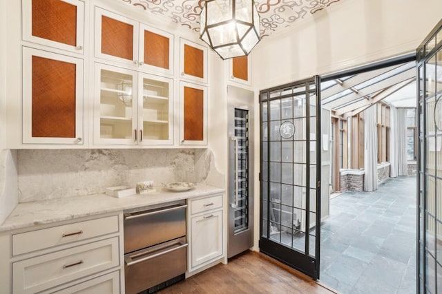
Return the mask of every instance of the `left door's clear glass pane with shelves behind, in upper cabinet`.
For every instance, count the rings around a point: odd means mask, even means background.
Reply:
[[[133,76],[102,70],[100,138],[132,138]]]

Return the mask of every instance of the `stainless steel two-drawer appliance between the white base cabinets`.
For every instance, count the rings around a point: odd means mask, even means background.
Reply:
[[[124,213],[126,293],[140,293],[186,272],[184,200]]]

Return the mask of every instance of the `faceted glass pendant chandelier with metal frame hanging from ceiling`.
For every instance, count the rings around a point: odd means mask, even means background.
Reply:
[[[206,0],[200,39],[222,59],[248,55],[260,41],[260,17],[253,0]]]

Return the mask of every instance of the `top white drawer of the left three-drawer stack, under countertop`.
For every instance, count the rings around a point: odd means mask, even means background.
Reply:
[[[19,255],[52,246],[115,233],[118,216],[86,220],[74,224],[51,227],[12,235],[12,255]]]

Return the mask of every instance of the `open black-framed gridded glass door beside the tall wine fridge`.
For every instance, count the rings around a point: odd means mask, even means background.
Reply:
[[[320,134],[319,76],[260,92],[260,251],[315,280]]]

